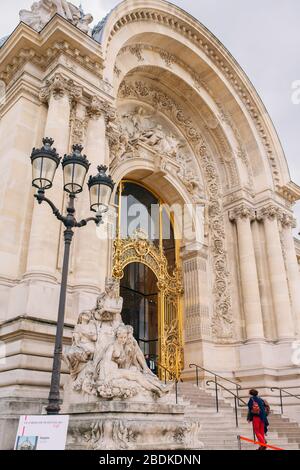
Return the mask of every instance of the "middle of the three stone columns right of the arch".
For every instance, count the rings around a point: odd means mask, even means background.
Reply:
[[[272,204],[263,207],[257,213],[257,219],[263,220],[264,222],[266,251],[277,335],[279,340],[286,340],[293,338],[294,327],[287,283],[287,273],[279,235],[279,216],[280,209]]]

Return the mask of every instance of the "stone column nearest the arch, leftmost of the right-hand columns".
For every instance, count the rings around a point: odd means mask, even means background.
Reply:
[[[255,213],[243,204],[231,210],[229,218],[237,227],[246,337],[248,341],[263,339],[264,329],[251,231],[251,220],[254,220]]]

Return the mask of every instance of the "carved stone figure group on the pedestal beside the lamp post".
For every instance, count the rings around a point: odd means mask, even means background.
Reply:
[[[96,307],[80,314],[72,346],[63,355],[70,370],[68,386],[83,400],[86,396],[128,399],[145,394],[151,400],[170,391],[148,368],[133,328],[123,324],[118,289],[118,283],[109,280]]]

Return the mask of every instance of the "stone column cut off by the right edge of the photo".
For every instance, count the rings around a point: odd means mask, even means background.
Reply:
[[[300,275],[292,229],[297,223],[291,214],[283,212],[281,216],[282,244],[288,276],[288,286],[292,301],[292,312],[297,332],[300,337]]]

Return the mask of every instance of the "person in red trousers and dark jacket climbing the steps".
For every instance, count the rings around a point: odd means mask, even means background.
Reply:
[[[257,440],[262,444],[266,444],[265,434],[268,432],[269,426],[267,418],[268,405],[258,396],[257,390],[249,390],[249,395],[247,421],[253,423],[253,431]],[[267,448],[260,445],[257,450],[267,450]]]

